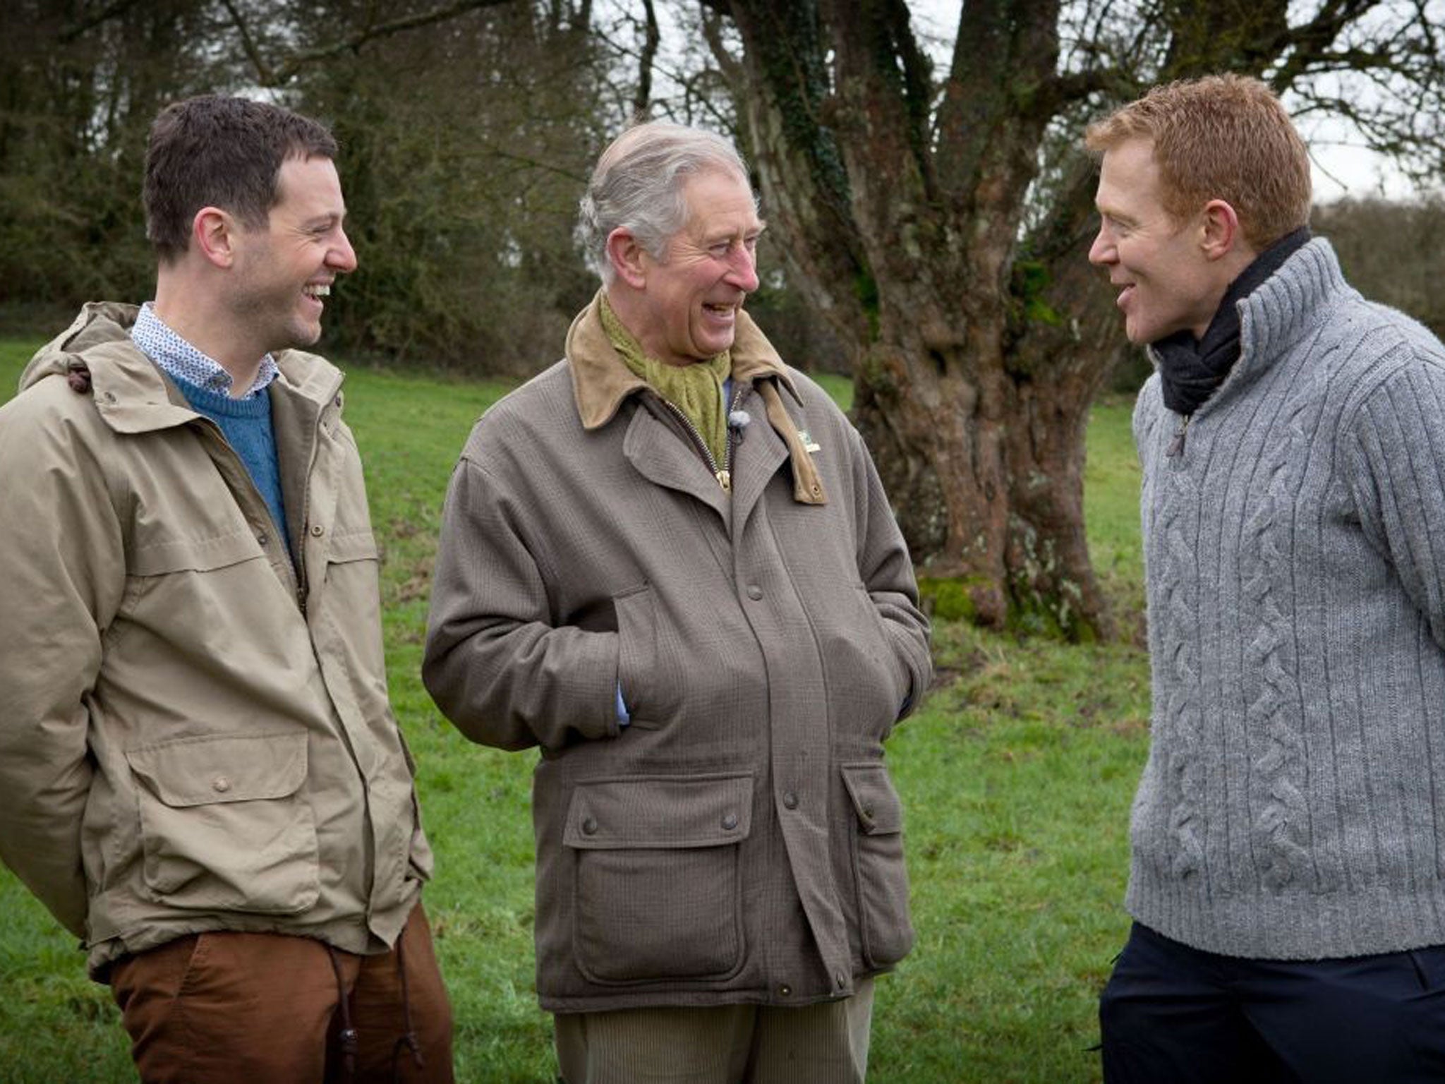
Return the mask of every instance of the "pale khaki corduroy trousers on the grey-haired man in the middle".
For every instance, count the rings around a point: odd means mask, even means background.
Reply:
[[[558,1013],[566,1084],[863,1084],[873,980],[799,1009],[720,1005]]]

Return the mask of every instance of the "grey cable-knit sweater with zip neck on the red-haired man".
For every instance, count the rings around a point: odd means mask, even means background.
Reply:
[[[1127,906],[1196,948],[1445,944],[1445,348],[1314,240],[1194,415],[1134,439],[1153,746]]]

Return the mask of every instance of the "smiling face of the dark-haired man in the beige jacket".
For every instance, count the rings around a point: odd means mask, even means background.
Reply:
[[[230,289],[231,309],[264,351],[315,343],[331,283],[357,266],[331,159],[286,159],[277,191],[266,227],[238,233]]]

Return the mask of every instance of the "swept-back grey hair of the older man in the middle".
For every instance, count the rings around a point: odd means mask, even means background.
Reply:
[[[607,256],[607,237],[623,227],[656,260],[688,220],[683,185],[709,171],[737,173],[747,184],[747,165],[722,136],[669,120],[627,129],[603,152],[579,205],[578,231],[587,263],[610,286],[617,275]]]

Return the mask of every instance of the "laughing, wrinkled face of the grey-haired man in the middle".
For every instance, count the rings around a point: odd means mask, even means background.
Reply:
[[[669,366],[688,366],[731,348],[737,314],[757,289],[757,238],[763,223],[747,181],[730,171],[691,176],[683,185],[686,224],[662,260],[643,253],[643,348]]]

